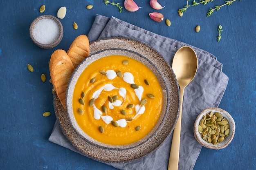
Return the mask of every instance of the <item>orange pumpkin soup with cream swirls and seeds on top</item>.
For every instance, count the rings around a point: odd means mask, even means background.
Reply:
[[[77,124],[87,135],[104,144],[126,145],[145,137],[157,124],[163,92],[147,66],[111,55],[85,68],[72,100]]]

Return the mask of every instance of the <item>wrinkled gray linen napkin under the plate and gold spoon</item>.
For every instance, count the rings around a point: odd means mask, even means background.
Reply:
[[[97,15],[88,34],[89,41],[111,37],[127,37],[144,42],[159,51],[170,65],[177,49],[185,45],[191,46],[146,31],[115,17],[107,18]],[[193,169],[202,148],[193,135],[194,121],[204,108],[218,107],[228,83],[228,77],[221,71],[222,64],[214,55],[194,46],[191,47],[198,56],[198,71],[184,91],[179,170]],[[55,123],[49,141],[79,152],[65,138],[58,121]],[[167,170],[171,141],[172,134],[156,151],[144,158],[128,163],[107,164],[121,170]]]

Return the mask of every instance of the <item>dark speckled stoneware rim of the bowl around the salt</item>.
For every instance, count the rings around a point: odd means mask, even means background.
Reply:
[[[42,43],[36,41],[36,39],[33,36],[34,26],[36,25],[36,23],[39,20],[42,20],[42,19],[45,19],[45,18],[50,18],[50,19],[54,20],[58,24],[59,29],[60,29],[58,38],[54,42],[52,42],[51,44],[42,44]],[[52,49],[53,47],[57,46],[61,42],[61,40],[62,40],[62,37],[63,37],[63,26],[62,26],[60,20],[58,20],[58,18],[54,17],[53,15],[40,15],[36,19],[34,19],[33,22],[31,23],[31,25],[29,27],[29,34],[30,34],[31,40],[37,46],[39,46],[40,48],[42,48],[42,49]]]

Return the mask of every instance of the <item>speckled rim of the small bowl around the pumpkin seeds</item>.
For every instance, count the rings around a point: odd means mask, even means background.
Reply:
[[[217,145],[214,145],[214,144],[211,144],[207,141],[204,141],[204,139],[202,139],[200,133],[198,132],[199,121],[202,119],[202,117],[206,113],[211,113],[211,111],[221,113],[222,116],[225,117],[229,122],[229,129],[230,129],[229,135],[222,142],[220,142]],[[236,124],[235,124],[234,119],[231,117],[231,115],[227,111],[225,111],[221,108],[216,108],[216,107],[205,108],[204,110],[202,110],[202,112],[198,115],[198,117],[195,120],[194,129],[193,129],[195,139],[202,146],[204,146],[206,148],[210,148],[210,149],[223,149],[223,148],[227,147],[230,144],[230,142],[232,141],[232,139],[235,135],[235,130],[236,130]]]

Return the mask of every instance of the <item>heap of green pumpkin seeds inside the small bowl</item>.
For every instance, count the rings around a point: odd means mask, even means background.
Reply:
[[[198,132],[202,139],[217,145],[229,135],[230,130],[227,119],[221,113],[211,111],[200,120]]]

